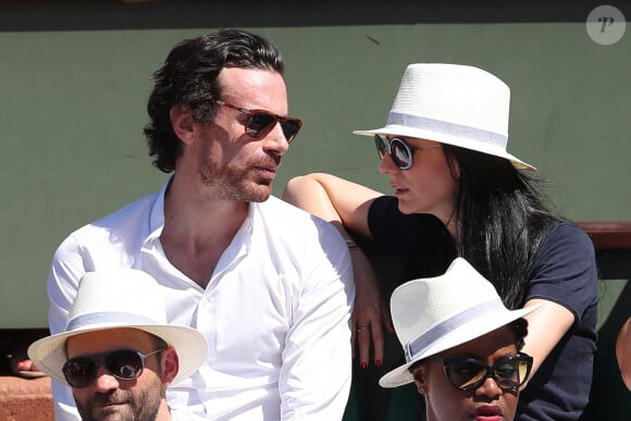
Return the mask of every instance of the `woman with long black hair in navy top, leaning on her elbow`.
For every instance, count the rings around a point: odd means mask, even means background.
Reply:
[[[375,364],[383,361],[387,317],[370,263],[348,232],[398,256],[403,281],[438,275],[463,257],[507,307],[548,304],[528,315],[524,350],[534,363],[517,419],[578,420],[596,348],[594,249],[583,231],[546,206],[535,169],[507,151],[509,101],[509,87],[484,70],[410,64],[385,126],[354,132],[374,138],[393,194],[314,173],[290,179],[283,196],[349,242],[362,368],[371,345]]]

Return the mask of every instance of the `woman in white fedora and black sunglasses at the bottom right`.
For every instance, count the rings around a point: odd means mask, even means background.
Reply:
[[[409,281],[391,299],[406,363],[380,384],[415,382],[429,421],[510,421],[532,367],[532,357],[520,351],[528,333],[523,317],[537,307],[508,310],[461,258],[444,275]]]

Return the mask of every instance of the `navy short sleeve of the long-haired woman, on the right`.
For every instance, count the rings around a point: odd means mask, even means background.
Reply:
[[[536,255],[527,299],[557,302],[580,321],[597,301],[597,281],[590,237],[576,225],[559,224],[550,230]]]

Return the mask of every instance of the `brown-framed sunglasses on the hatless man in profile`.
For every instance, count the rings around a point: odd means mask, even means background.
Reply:
[[[248,110],[247,108],[233,106],[221,99],[211,99],[211,101],[218,106],[227,107],[247,114],[249,117],[245,125],[246,134],[252,139],[262,139],[280,122],[285,139],[290,144],[300,131],[300,127],[302,127],[302,121],[297,117],[281,116],[265,110]]]

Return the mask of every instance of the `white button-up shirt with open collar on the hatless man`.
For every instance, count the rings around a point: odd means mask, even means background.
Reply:
[[[209,345],[199,371],[169,387],[171,408],[211,420],[342,419],[355,299],[342,236],[275,197],[251,203],[201,288],[162,249],[166,185],[60,245],[48,276],[51,333],[65,330],[84,273],[144,270],[164,286],[170,323],[199,330]],[[53,395],[55,419],[78,420],[70,387],[53,381]]]

